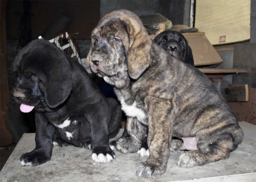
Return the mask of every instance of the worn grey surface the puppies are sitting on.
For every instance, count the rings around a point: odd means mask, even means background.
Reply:
[[[146,157],[116,152],[113,162],[99,164],[91,160],[89,150],[73,146],[54,147],[49,162],[36,167],[22,167],[18,164],[20,156],[35,148],[35,134],[24,134],[0,172],[0,182],[171,182],[191,179],[193,182],[255,182],[256,126],[247,122],[239,124],[244,131],[244,140],[228,159],[194,168],[179,168],[176,163],[180,154],[171,153],[166,173],[157,179],[135,176],[139,163]],[[117,137],[122,131],[120,129]]]

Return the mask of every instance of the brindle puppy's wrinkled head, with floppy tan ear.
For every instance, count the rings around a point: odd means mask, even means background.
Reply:
[[[92,31],[86,71],[120,88],[129,76],[137,79],[148,68],[151,43],[136,14],[113,11]]]

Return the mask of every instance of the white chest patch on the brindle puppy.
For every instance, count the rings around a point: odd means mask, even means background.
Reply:
[[[125,114],[129,117],[137,117],[139,121],[144,121],[146,119],[146,114],[145,112],[136,107],[136,101],[134,101],[133,105],[127,105],[122,98],[120,100],[121,105],[122,105],[122,110],[125,112]]]

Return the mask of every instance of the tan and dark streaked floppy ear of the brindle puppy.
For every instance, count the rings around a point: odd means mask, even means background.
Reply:
[[[143,27],[144,28],[144,27]],[[150,62],[150,48],[152,41],[141,28],[135,36],[129,35],[130,48],[127,52],[128,73],[132,79],[137,79],[148,68]]]

